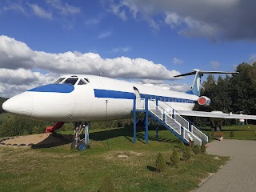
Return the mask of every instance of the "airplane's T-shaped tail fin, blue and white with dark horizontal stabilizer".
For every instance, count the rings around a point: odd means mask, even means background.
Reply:
[[[188,75],[194,75],[194,81],[193,84],[191,86],[191,90],[187,91],[187,94],[195,94],[200,96],[200,90],[201,90],[201,78],[203,76],[203,74],[238,74],[239,72],[224,72],[224,71],[202,71],[202,70],[197,70],[194,69],[193,72],[190,73],[186,73],[186,74],[179,74],[174,76],[174,78],[178,78],[178,77],[184,77],[184,76],[188,76]]]

